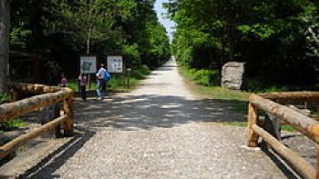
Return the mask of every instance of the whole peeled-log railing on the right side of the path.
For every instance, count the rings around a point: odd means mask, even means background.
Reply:
[[[309,164],[299,154],[294,153],[291,149],[281,144],[273,135],[267,133],[260,127],[259,116],[257,111],[272,114],[285,124],[290,124],[294,129],[312,139],[319,144],[319,123],[314,118],[308,117],[300,112],[293,110],[276,102],[319,102],[318,92],[293,92],[293,93],[273,93],[273,94],[252,94],[249,97],[248,106],[248,146],[256,147],[259,136],[273,147],[278,154],[289,161],[290,164],[305,178],[319,178],[319,149],[317,149],[317,166],[316,169]]]

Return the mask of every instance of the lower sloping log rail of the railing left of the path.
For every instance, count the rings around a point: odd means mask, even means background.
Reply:
[[[27,133],[27,134],[22,134],[18,137],[16,137],[13,141],[10,141],[7,144],[4,144],[3,146],[0,147],[0,158],[5,157],[7,154],[12,153],[18,146],[26,144],[33,138],[36,138],[40,134],[44,134],[47,131],[55,128],[58,124],[62,124],[66,121],[67,115],[63,115],[58,117],[57,119],[48,122],[44,125],[41,125],[40,127],[36,128],[35,130]]]

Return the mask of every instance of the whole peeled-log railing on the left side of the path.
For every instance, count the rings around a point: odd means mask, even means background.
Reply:
[[[57,116],[56,119],[41,125],[35,130],[22,134],[14,140],[0,146],[0,159],[7,154],[12,153],[18,146],[26,144],[30,140],[36,138],[40,134],[44,134],[60,124],[64,124],[64,135],[73,135],[73,94],[69,88],[61,88],[56,86],[46,85],[31,85],[31,84],[12,84],[11,95],[13,99],[17,98],[18,94],[30,93],[37,94],[35,96],[18,100],[13,103],[0,105],[0,122],[9,121],[16,116],[36,111],[46,105],[57,104],[63,102],[63,114]]]

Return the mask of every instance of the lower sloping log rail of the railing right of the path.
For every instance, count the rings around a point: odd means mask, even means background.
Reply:
[[[291,149],[286,147],[285,145],[279,143],[277,139],[275,139],[271,134],[268,134],[261,127],[256,124],[252,125],[252,129],[267,142],[270,144],[273,149],[283,156],[290,164],[293,164],[295,169],[303,174],[305,178],[314,179],[316,175],[315,168],[309,164],[304,158],[299,156],[299,154],[294,153]]]

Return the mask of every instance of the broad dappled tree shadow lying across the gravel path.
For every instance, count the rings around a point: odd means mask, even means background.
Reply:
[[[190,122],[242,122],[244,114],[231,112],[221,101],[189,100],[174,95],[127,95],[108,101],[91,100],[76,104],[76,123],[89,127],[113,127],[120,130],[170,128]]]

